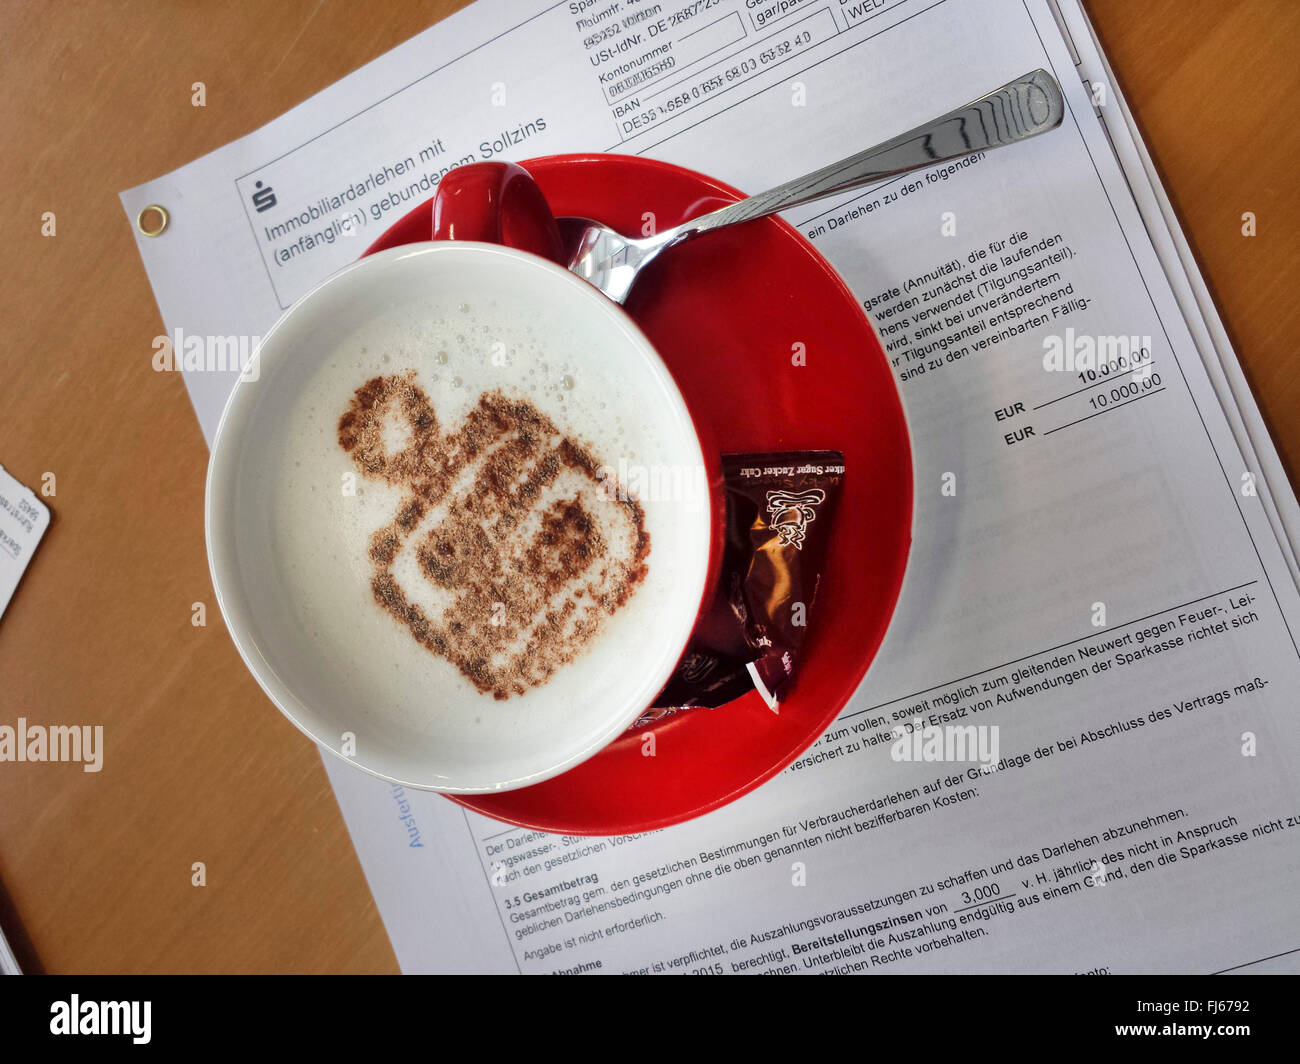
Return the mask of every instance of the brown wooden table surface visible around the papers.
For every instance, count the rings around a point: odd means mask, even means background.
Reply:
[[[179,375],[150,368],[162,325],[117,194],[459,7],[0,4],[0,463],[57,477],[0,620],[0,723],[103,723],[107,744],[98,774],[0,765],[0,926],[27,970],[396,970],[320,756],[213,604],[208,453]],[[1295,483],[1300,124],[1279,116],[1300,4],[1089,9]]]

